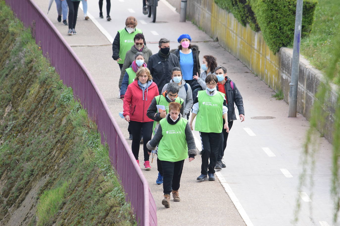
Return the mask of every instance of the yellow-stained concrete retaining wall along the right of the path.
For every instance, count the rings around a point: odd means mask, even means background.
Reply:
[[[174,7],[178,7],[177,3],[169,1]],[[266,45],[261,32],[254,32],[249,25],[242,26],[233,14],[219,8],[214,0],[188,0],[187,18],[213,39],[218,38],[221,46],[237,57],[274,91],[282,90],[284,100],[288,103],[292,49],[281,48],[274,55]],[[322,78],[322,73],[312,68],[309,62],[300,56],[297,111],[307,119],[310,117],[314,96]],[[325,127],[320,128],[320,131],[328,141],[332,142],[335,109],[331,106],[334,106],[338,98],[335,89],[329,97],[330,107],[325,109],[329,117],[326,119]]]

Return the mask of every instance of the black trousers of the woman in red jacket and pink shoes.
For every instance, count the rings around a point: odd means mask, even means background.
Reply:
[[[136,122],[130,121],[130,128],[132,133],[132,153],[135,156],[136,160],[138,160],[138,153],[139,153],[139,142],[140,142],[140,131],[143,128],[143,150],[144,150],[144,161],[149,161],[150,155],[148,154],[147,143],[151,140],[152,134],[152,122]]]

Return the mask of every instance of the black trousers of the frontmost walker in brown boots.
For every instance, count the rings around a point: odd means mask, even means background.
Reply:
[[[168,162],[160,160],[163,168],[163,192],[170,194],[172,190],[180,188],[184,160]]]

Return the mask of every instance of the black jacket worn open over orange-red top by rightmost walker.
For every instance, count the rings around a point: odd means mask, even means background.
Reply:
[[[234,108],[234,103],[238,109],[238,114],[239,115],[244,115],[244,107],[243,107],[243,99],[240,94],[240,91],[236,87],[235,82],[234,84],[234,89],[232,89],[230,82],[232,82],[228,77],[227,81],[224,83],[224,88],[225,88],[225,93],[227,95],[227,107],[228,107],[228,121],[233,121],[237,120],[236,115],[235,115],[235,108]]]

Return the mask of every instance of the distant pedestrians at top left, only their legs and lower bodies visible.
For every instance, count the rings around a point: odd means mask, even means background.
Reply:
[[[75,24],[77,23],[78,18],[78,8],[80,2],[83,4],[84,11],[84,20],[88,20],[87,16],[87,0],[54,0],[57,6],[57,21],[61,22],[63,18],[63,24],[68,25],[67,35],[77,35],[75,31]],[[99,18],[103,17],[103,0],[99,0]],[[106,20],[111,21],[110,17],[110,9],[111,9],[111,0],[106,0]],[[68,15],[67,15],[68,14]],[[67,23],[68,19],[68,23]]]

